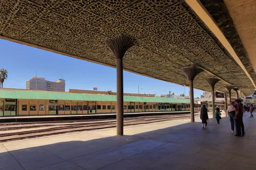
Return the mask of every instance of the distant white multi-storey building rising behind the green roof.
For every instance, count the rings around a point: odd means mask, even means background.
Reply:
[[[26,81],[26,89],[46,90],[46,91],[65,91],[65,80],[59,79],[56,82],[47,81],[45,78],[32,77]]]

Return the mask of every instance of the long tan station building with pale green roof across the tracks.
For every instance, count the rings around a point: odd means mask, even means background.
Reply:
[[[90,90],[71,90],[71,92],[50,92],[24,89],[0,90],[0,116],[24,115],[64,115],[116,113],[115,93],[94,93]],[[94,93],[94,94],[92,94]],[[158,112],[190,110],[189,100],[160,98],[145,94],[126,94],[123,96],[123,111]],[[200,105],[195,104],[195,110]]]

